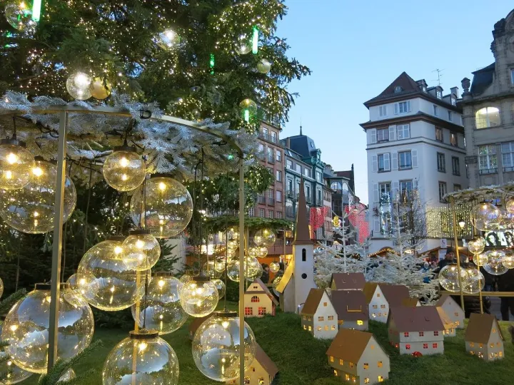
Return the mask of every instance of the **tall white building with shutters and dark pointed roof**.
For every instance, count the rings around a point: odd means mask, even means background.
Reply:
[[[385,197],[392,201],[417,190],[429,210],[445,205],[446,193],[468,188],[458,98],[457,87],[443,95],[440,86],[428,88],[403,72],[364,103],[370,116],[361,126],[367,138],[371,253],[393,246],[391,224],[383,215]],[[428,239],[423,250],[439,245],[439,239]]]

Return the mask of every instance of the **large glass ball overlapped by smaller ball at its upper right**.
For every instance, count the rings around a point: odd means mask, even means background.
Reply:
[[[89,249],[79,263],[79,290],[89,304],[114,312],[126,309],[143,297],[146,274],[136,272],[123,260],[121,240],[105,240]]]

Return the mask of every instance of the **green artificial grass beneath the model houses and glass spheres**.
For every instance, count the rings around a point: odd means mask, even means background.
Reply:
[[[231,307],[235,307],[231,304]],[[191,320],[191,317],[190,317]],[[341,379],[333,377],[328,366],[326,350],[331,341],[314,339],[301,329],[300,317],[296,314],[278,312],[276,317],[247,319],[256,339],[279,369],[277,385],[336,385]],[[507,331],[508,323],[500,322],[505,337],[505,358],[485,362],[465,353],[464,330],[459,329],[457,337],[445,339],[445,354],[436,356],[400,356],[388,344],[385,324],[370,322],[370,331],[375,334],[391,360],[390,379],[384,385],[455,385],[455,384],[513,384],[514,349]],[[91,356],[85,357],[74,369],[77,374],[88,369],[97,369],[96,375],[81,381],[82,385],[100,385],[101,369],[109,351],[128,331],[98,329],[95,338],[104,342]],[[175,349],[180,364],[180,385],[221,384],[203,376],[193,362],[191,341],[188,338],[188,323],[178,331],[164,336]],[[21,384],[36,385],[39,376],[31,376]]]

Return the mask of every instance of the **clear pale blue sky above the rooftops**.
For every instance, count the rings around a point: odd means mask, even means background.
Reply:
[[[368,203],[363,103],[378,96],[400,73],[444,93],[472,71],[493,63],[494,24],[514,9],[512,0],[286,0],[277,36],[288,56],[313,71],[293,81],[299,93],[281,138],[303,134],[334,170],[354,164],[356,194]]]

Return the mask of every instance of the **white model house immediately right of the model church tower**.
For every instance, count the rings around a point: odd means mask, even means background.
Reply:
[[[314,337],[333,339],[338,332],[338,317],[324,289],[311,289],[300,312],[301,325]]]

